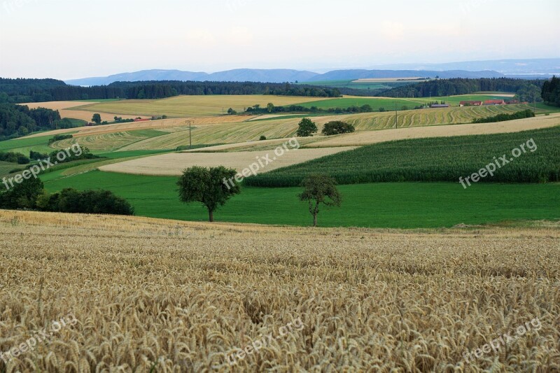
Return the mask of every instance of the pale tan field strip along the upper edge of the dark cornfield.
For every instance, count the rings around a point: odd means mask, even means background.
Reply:
[[[426,137],[463,136],[470,134],[500,134],[506,132],[520,132],[527,129],[540,129],[560,125],[560,114],[539,116],[498,123],[480,123],[470,125],[440,125],[416,128],[383,129],[381,131],[363,131],[323,137],[318,141],[305,145],[306,148],[321,148],[323,146],[364,146],[372,143],[403,139],[422,139]]]

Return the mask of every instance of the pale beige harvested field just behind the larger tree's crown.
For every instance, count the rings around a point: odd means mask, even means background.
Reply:
[[[193,166],[225,166],[237,169],[237,171],[241,172],[241,170],[249,167],[249,165],[258,162],[257,159],[269,155],[269,164],[266,164],[265,167],[258,166],[260,169],[258,173],[262,173],[292,164],[307,162],[308,160],[314,160],[315,158],[339,153],[344,150],[351,150],[353,147],[293,149],[291,146],[288,146],[288,149],[289,151],[286,151],[286,153],[281,156],[275,155],[274,151],[266,153],[260,151],[236,153],[170,153],[109,164],[99,167],[99,169],[101,171],[119,172],[123,174],[159,176],[181,175],[184,169]],[[264,160],[262,162],[266,163]]]

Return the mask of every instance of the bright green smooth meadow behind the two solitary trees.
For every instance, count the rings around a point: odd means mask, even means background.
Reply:
[[[200,204],[179,202],[177,178],[90,171],[67,178],[43,176],[50,191],[62,188],[113,190],[134,205],[139,216],[206,220]],[[325,227],[451,227],[459,223],[503,220],[560,219],[560,185],[474,185],[458,183],[381,183],[342,185],[340,209],[323,209]],[[239,223],[308,225],[307,206],[298,201],[300,188],[244,188],[223,206],[216,219]]]

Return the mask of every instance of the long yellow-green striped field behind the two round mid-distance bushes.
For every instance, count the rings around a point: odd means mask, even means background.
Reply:
[[[432,126],[432,125],[445,125],[445,124],[458,124],[465,122],[472,122],[474,118],[486,118],[496,113],[514,113],[523,108],[520,106],[485,106],[485,107],[465,107],[465,108],[446,108],[446,109],[421,109],[412,111],[402,111],[398,115],[399,127],[417,127],[417,126]],[[549,117],[542,117],[549,118]],[[550,118],[553,118],[552,116]],[[281,139],[295,136],[297,131],[297,124],[301,118],[271,118],[267,120],[246,120],[244,116],[225,116],[225,117],[206,117],[195,118],[195,124],[191,132],[192,141],[194,145],[202,144],[216,144],[216,143],[243,143],[246,141],[257,141],[260,136],[266,136],[267,139]],[[219,122],[220,120],[232,120],[232,122]],[[237,120],[237,122],[234,122]],[[239,120],[245,120],[239,122]],[[360,136],[360,132],[372,131],[377,129],[388,129],[394,127],[395,113],[362,113],[350,115],[326,115],[321,117],[312,118],[318,125],[318,130],[321,132],[322,126],[331,120],[344,120],[353,124],[356,127],[356,134],[353,136]],[[157,123],[156,123],[157,122]],[[174,130],[163,136],[151,137],[137,141],[137,139],[130,139],[126,143],[121,137],[123,142],[119,143],[120,150],[163,150],[174,149],[179,146],[186,146],[189,144],[188,127],[185,126],[184,119],[169,119],[158,120],[148,123],[152,129],[161,129],[168,131],[166,127],[173,128]],[[127,130],[127,127],[135,127],[137,123],[130,123],[124,125],[114,125],[115,127],[104,128],[110,126],[87,127],[80,130],[74,137],[87,136],[86,142],[94,143],[99,138],[99,134],[106,134],[111,132],[118,132]],[[429,130],[428,130],[429,132]],[[92,136],[94,135],[94,136]],[[364,135],[365,136],[365,135]],[[367,135],[371,136],[371,135]],[[374,136],[374,135],[372,135]],[[337,138],[339,139],[339,138]],[[323,141],[321,136],[315,136],[313,141]],[[330,139],[328,140],[330,141]],[[336,141],[336,140],[332,140]],[[109,150],[103,144],[93,146],[94,149]]]

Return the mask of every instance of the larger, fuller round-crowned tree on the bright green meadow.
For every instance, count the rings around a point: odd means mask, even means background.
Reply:
[[[235,180],[237,171],[223,166],[191,167],[183,171],[177,181],[179,198],[182,202],[201,202],[208,209],[209,220],[214,221],[214,211],[223,206],[228,199],[241,192]]]

